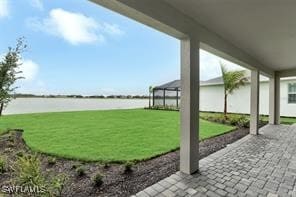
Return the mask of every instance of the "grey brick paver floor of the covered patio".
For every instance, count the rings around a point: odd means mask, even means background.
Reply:
[[[267,125],[135,196],[295,196],[296,125]]]

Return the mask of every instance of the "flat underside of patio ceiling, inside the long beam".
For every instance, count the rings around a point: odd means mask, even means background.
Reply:
[[[165,1],[267,67],[296,67],[295,0]]]

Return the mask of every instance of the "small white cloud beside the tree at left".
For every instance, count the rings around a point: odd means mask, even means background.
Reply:
[[[24,77],[23,81],[33,81],[39,70],[39,65],[32,60],[23,60],[18,71],[22,71],[20,76]]]

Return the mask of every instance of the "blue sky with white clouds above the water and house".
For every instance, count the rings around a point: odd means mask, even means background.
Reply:
[[[0,0],[0,56],[19,37],[25,79],[18,93],[147,95],[180,78],[180,41],[86,0]],[[200,78],[221,75],[200,51]]]

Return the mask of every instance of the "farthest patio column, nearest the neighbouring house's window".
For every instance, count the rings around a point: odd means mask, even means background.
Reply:
[[[269,79],[269,124],[280,124],[280,77]]]

